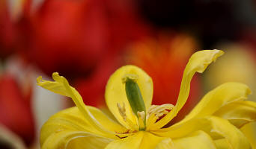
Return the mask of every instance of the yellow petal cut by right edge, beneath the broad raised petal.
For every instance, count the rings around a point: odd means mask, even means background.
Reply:
[[[243,127],[256,121],[256,103],[252,101],[237,101],[220,108],[214,115],[228,119],[236,127]]]

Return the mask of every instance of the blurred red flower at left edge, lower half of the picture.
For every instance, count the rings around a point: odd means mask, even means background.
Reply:
[[[34,118],[31,111],[31,86],[26,90],[12,75],[0,76],[0,123],[24,139],[27,145],[34,140]],[[22,92],[24,91],[24,92]]]

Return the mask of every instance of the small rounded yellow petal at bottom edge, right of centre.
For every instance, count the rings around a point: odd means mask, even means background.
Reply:
[[[178,149],[216,149],[213,139],[201,130],[181,139],[174,139],[173,142]]]

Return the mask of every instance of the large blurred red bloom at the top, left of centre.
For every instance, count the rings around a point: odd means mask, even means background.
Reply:
[[[149,31],[132,1],[46,0],[26,12],[10,22],[19,28],[10,45],[48,75],[85,77],[106,54],[114,56]]]

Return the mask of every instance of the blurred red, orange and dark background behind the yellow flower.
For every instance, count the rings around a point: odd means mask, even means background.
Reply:
[[[0,148],[39,148],[40,127],[73,103],[36,85],[67,77],[85,104],[109,113],[104,90],[120,66],[153,78],[153,104],[175,104],[192,53],[225,55],[195,75],[183,118],[228,81],[246,83],[256,101],[255,0],[1,0]],[[256,124],[243,127],[255,145]]]

